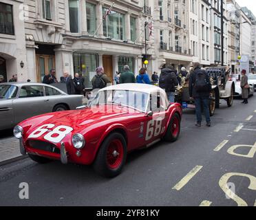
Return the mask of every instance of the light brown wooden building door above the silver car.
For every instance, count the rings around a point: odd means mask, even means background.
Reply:
[[[43,77],[50,74],[50,70],[55,69],[54,55],[36,55],[36,80],[43,82]]]

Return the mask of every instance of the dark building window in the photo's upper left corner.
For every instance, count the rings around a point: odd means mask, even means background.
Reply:
[[[12,5],[0,3],[0,34],[14,35]]]

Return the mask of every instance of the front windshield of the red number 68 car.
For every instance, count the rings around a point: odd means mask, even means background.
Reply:
[[[145,112],[148,100],[149,94],[139,91],[100,91],[90,103],[90,107],[98,104],[121,104]]]

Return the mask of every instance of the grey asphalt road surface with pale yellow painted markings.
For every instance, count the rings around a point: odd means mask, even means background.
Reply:
[[[184,111],[177,142],[129,154],[114,179],[60,162],[0,166],[0,206],[256,206],[256,96],[248,101],[231,108],[222,101],[211,128],[195,127],[193,110]],[[21,182],[29,199],[19,199]]]

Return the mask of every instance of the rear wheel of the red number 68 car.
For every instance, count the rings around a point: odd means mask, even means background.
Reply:
[[[177,126],[178,126],[178,130],[177,130]],[[173,132],[173,129],[176,129],[175,132]],[[164,140],[167,142],[175,142],[176,140],[178,140],[179,135],[180,135],[180,115],[178,115],[178,113],[174,113],[173,118],[171,118],[168,124],[167,133],[165,133],[164,135]]]

